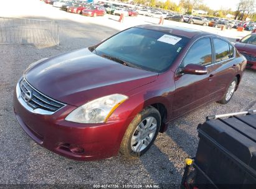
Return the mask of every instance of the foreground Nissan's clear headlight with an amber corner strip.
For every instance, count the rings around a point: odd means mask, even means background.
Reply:
[[[126,99],[128,97],[123,94],[103,96],[73,110],[65,120],[80,123],[106,122],[113,111]]]

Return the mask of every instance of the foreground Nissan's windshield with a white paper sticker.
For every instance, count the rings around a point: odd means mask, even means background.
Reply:
[[[159,73],[170,67],[188,41],[186,37],[133,27],[98,45],[93,53]]]

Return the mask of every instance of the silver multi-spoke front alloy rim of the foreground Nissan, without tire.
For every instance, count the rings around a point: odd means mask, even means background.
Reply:
[[[141,152],[153,140],[156,134],[157,121],[154,117],[148,117],[138,124],[131,137],[131,149],[134,152]]]

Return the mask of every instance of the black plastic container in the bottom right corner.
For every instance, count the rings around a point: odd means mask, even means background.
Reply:
[[[256,188],[256,114],[212,119],[198,132],[193,167],[199,188]]]

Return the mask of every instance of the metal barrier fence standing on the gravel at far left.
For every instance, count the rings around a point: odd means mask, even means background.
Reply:
[[[59,45],[55,21],[0,17],[0,44]]]

